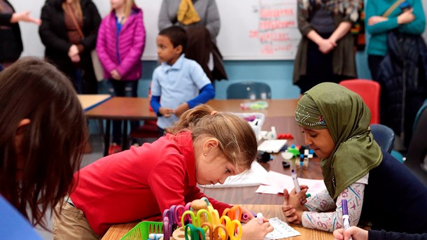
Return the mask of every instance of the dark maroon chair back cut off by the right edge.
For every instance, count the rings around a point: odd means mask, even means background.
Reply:
[[[404,164],[427,185],[427,108],[421,106],[417,116]]]

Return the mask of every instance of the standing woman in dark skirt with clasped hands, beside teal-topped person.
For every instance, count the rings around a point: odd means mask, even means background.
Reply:
[[[361,0],[298,0],[302,34],[294,62],[293,83],[301,94],[318,83],[356,78],[351,24],[358,20]]]

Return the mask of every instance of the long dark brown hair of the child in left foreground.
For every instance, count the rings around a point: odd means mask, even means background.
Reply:
[[[33,225],[46,228],[46,211],[57,214],[55,205],[73,189],[82,160],[87,125],[80,101],[54,66],[22,57],[0,73],[0,109],[0,194]],[[29,124],[18,128],[25,118]],[[22,179],[18,159],[25,163]]]

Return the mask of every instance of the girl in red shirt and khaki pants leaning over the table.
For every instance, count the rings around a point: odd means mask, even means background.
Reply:
[[[53,220],[54,239],[98,239],[113,224],[158,216],[172,205],[205,195],[201,185],[224,183],[251,167],[257,141],[251,126],[232,113],[207,105],[186,111],[154,143],[131,147],[81,169],[78,185]],[[209,198],[222,215],[229,204]],[[250,211],[243,209],[253,218]],[[244,220],[248,222],[249,220]],[[273,228],[253,218],[244,239],[264,239]]]

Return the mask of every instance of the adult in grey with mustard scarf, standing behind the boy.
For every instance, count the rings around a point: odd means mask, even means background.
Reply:
[[[158,21],[159,30],[172,25],[187,30],[186,57],[199,63],[212,83],[227,79],[223,56],[216,46],[221,21],[215,0],[163,0]]]

